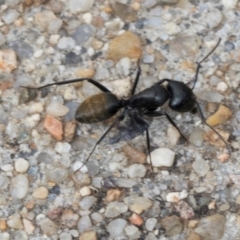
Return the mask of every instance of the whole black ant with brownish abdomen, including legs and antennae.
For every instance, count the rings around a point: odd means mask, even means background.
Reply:
[[[85,101],[83,101],[76,111],[75,118],[80,123],[97,123],[104,121],[106,119],[114,116],[120,109],[123,108],[123,111],[119,116],[113,121],[113,123],[108,127],[105,133],[99,138],[96,142],[95,146],[89,153],[87,159],[84,161],[87,162],[91,157],[92,153],[96,149],[97,145],[101,143],[101,141],[106,137],[106,135],[110,132],[110,130],[120,121],[123,121],[126,114],[129,115],[130,119],[134,122],[134,124],[146,131],[146,143],[147,143],[147,152],[150,156],[150,138],[149,138],[149,125],[144,120],[144,116],[150,117],[160,117],[165,116],[167,120],[179,131],[182,138],[187,140],[187,138],[181,133],[180,129],[176,125],[176,123],[172,120],[172,118],[164,111],[157,110],[164,103],[169,100],[170,109],[176,112],[198,112],[201,118],[202,123],[206,124],[209,128],[211,128],[219,138],[224,142],[226,148],[228,149],[229,155],[231,155],[231,150],[224,140],[224,138],[212,127],[210,126],[203,115],[201,107],[197,102],[196,96],[193,93],[193,89],[198,80],[199,70],[201,68],[202,62],[204,62],[218,47],[221,39],[217,42],[216,46],[200,61],[197,63],[195,77],[193,79],[193,86],[190,88],[187,84],[179,81],[175,81],[172,79],[162,79],[151,87],[144,89],[143,91],[135,94],[136,87],[141,75],[140,63],[138,61],[138,69],[137,74],[131,89],[130,97],[128,99],[118,99],[115,94],[113,94],[108,88],[98,83],[97,81],[91,78],[78,78],[72,80],[61,81],[57,83],[50,83],[41,87],[33,88],[33,87],[25,87],[28,89],[36,89],[41,90],[43,88],[53,86],[53,85],[63,85],[74,82],[88,81],[93,84],[97,88],[99,88],[102,92],[99,94],[95,94]],[[167,83],[166,86],[163,86],[163,83]],[[187,140],[188,141],[188,140]],[[83,166],[83,165],[82,165]]]

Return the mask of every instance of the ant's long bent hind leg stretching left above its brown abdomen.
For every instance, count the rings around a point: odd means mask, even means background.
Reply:
[[[103,92],[111,92],[109,89],[107,89],[106,87],[104,87],[101,83],[91,79],[91,78],[77,78],[77,79],[71,79],[71,80],[66,80],[66,81],[61,81],[61,82],[54,82],[54,83],[49,83],[46,84],[44,86],[41,87],[25,87],[22,86],[23,88],[28,88],[28,89],[37,89],[37,90],[41,90],[45,87],[50,87],[53,85],[64,85],[64,84],[68,84],[68,83],[75,83],[75,82],[82,82],[82,81],[88,81],[90,83],[92,83],[95,87],[97,87],[98,89],[100,89]]]

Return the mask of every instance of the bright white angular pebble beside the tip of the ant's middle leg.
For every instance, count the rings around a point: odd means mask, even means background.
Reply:
[[[158,148],[151,152],[151,158],[154,167],[171,167],[174,162],[175,152],[169,148]],[[149,156],[147,161],[151,164]]]

